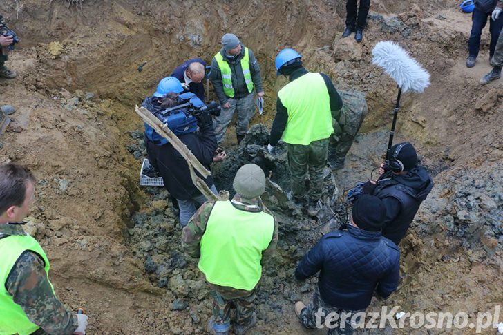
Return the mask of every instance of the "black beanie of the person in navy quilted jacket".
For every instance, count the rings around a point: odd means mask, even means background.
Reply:
[[[353,205],[353,222],[366,231],[380,231],[386,218],[386,207],[374,195],[361,195]]]

